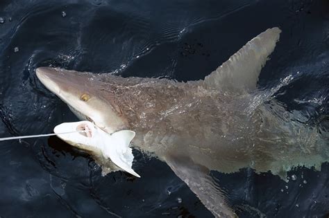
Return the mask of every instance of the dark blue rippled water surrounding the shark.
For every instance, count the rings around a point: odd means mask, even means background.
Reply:
[[[259,87],[293,77],[276,98],[328,136],[328,1],[2,0],[0,17],[1,136],[77,120],[37,80],[37,66],[199,80],[273,26],[282,35]],[[141,179],[102,177],[56,137],[1,143],[0,165],[0,217],[212,217],[165,163],[138,151]],[[292,175],[214,172],[240,217],[328,217],[329,164]]]

